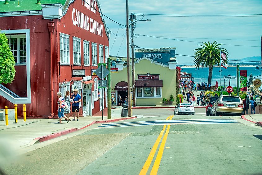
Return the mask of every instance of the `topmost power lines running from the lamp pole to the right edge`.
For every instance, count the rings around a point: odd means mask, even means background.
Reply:
[[[262,14],[237,14],[237,15],[178,15],[178,14],[146,14],[134,13],[137,16],[170,16],[170,17],[260,17]]]

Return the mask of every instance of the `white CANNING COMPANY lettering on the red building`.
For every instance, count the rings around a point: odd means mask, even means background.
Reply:
[[[74,26],[103,37],[103,25],[75,8],[72,9],[72,21]]]

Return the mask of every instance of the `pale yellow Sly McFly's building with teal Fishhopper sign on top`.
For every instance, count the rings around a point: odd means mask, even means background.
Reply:
[[[136,105],[162,105],[162,99],[169,99],[171,94],[176,98],[175,47],[136,49],[135,57],[135,89],[131,91],[135,90]],[[111,94],[120,95],[124,101],[128,87],[127,64],[120,59],[112,60],[116,60],[112,65],[118,72],[111,72]]]

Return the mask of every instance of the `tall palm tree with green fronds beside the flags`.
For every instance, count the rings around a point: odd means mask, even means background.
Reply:
[[[196,70],[199,69],[199,66],[209,67],[208,71],[208,82],[211,84],[213,66],[220,65],[220,50],[228,55],[226,49],[221,48],[223,44],[218,44],[216,41],[214,43],[203,43],[204,45],[199,45],[200,47],[195,49],[194,53],[194,64],[196,65]],[[225,60],[228,63],[228,59]]]

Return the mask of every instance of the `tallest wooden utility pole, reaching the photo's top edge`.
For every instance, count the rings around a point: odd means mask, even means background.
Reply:
[[[126,0],[127,8],[127,93],[128,93],[128,117],[131,117],[131,89],[130,89],[130,50],[129,50],[129,10],[128,0]]]

